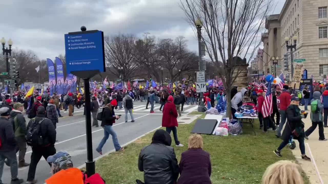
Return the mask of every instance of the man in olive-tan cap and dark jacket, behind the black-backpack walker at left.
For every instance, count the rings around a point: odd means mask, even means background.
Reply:
[[[24,111],[23,103],[15,103],[14,109],[10,112],[10,119],[13,124],[15,139],[17,141],[16,153],[19,151],[18,155],[18,167],[29,166],[29,163],[25,162],[25,153],[26,153],[26,121],[22,112]]]

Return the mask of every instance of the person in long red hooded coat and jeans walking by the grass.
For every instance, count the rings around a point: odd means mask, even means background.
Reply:
[[[176,131],[176,127],[178,126],[178,121],[176,120],[177,117],[178,113],[176,112],[176,108],[173,103],[173,96],[170,95],[167,98],[167,102],[165,103],[163,108],[162,127],[166,127],[166,131],[169,134],[171,134],[171,131],[173,132],[173,137],[176,146],[183,147],[183,144],[181,144],[178,140],[178,135]]]

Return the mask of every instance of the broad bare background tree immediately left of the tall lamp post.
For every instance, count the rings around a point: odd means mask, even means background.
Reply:
[[[172,81],[182,76],[183,72],[196,70],[197,57],[187,49],[184,37],[179,36],[175,41],[162,39],[157,50],[160,65],[169,72]]]

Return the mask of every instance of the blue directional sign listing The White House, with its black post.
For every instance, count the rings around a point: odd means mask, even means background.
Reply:
[[[92,155],[91,105],[89,79],[105,71],[104,33],[99,30],[87,31],[82,26],[81,31],[65,34],[66,70],[68,74],[76,75],[84,81],[85,124],[87,137],[86,173],[95,173]]]

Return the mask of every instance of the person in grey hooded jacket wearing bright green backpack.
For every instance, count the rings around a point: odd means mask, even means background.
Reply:
[[[319,140],[327,140],[323,133],[323,104],[320,101],[321,93],[315,91],[313,93],[313,99],[311,100],[311,120],[312,126],[305,131],[305,138],[309,139],[309,135],[319,126]]]

